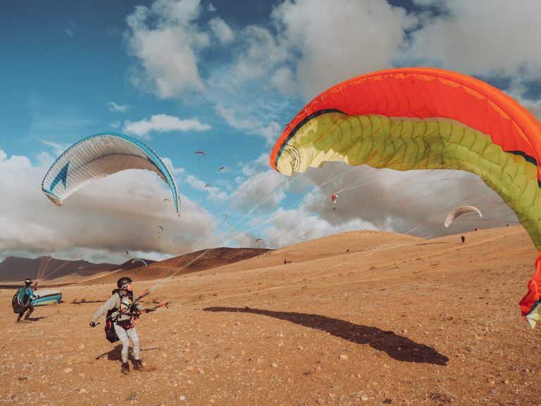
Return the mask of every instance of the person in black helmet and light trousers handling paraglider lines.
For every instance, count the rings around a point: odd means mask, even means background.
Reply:
[[[135,330],[134,319],[137,313],[146,313],[147,310],[142,309],[139,303],[133,301],[133,283],[130,278],[124,276],[118,279],[116,285],[118,289],[113,290],[113,295],[94,314],[90,326],[95,327],[99,316],[107,312],[108,319],[106,319],[106,322],[113,324],[116,336],[122,343],[122,367],[120,371],[123,374],[129,374],[130,372],[130,364],[128,364],[130,340],[132,340],[133,344],[133,369],[144,371],[144,365],[139,358],[139,336],[137,336],[137,330]]]

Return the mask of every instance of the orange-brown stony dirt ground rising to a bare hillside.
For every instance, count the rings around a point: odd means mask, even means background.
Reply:
[[[363,231],[176,276],[144,300],[170,308],[139,319],[147,371],[128,376],[89,326],[112,284],[25,324],[2,289],[0,405],[541,405],[541,330],[518,308],[536,254],[518,226]]]

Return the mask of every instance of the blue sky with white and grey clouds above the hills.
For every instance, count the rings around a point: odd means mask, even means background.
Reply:
[[[375,185],[345,195],[349,204],[338,214],[329,212],[325,197],[366,168],[330,165],[288,184],[291,179],[268,166],[273,140],[326,88],[394,66],[475,75],[537,115],[541,56],[531,47],[541,39],[540,17],[535,1],[8,2],[0,14],[0,176],[12,197],[0,207],[8,231],[0,238],[0,257],[55,253],[118,262],[126,247],[158,259],[202,248],[194,244],[201,236],[208,246],[220,245],[225,240],[213,229],[233,224],[224,245],[261,246],[255,240],[263,238],[276,247],[359,228],[404,232],[420,222],[418,235],[446,233],[438,228],[437,199],[397,209],[393,202],[418,190],[382,195],[390,179],[402,181],[385,171],[372,175]],[[138,137],[167,159],[182,195],[182,221],[153,206],[163,199],[132,195],[142,188],[166,194],[158,178],[140,173],[100,181],[59,209],[40,195],[54,158],[104,131]],[[206,156],[195,156],[196,150]],[[331,174],[336,179],[325,183]],[[456,202],[483,187],[469,180]],[[211,190],[202,187],[206,183]],[[446,187],[436,183],[431,193]],[[373,199],[364,207],[353,204],[367,194]],[[483,199],[499,207],[490,191]],[[80,200],[88,211],[77,211]],[[382,200],[385,213],[378,210]],[[167,222],[169,233],[159,241],[142,242],[148,223],[136,223],[143,210],[149,211],[144,221]],[[506,207],[498,210],[486,226],[515,220]],[[430,221],[423,220],[427,212]],[[232,216],[229,223],[223,214]],[[77,237],[99,216],[123,230],[117,241],[104,239],[97,226],[87,238]],[[453,232],[471,223],[461,227]]]

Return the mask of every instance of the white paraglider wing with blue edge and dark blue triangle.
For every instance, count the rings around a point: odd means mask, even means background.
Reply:
[[[160,157],[143,142],[116,133],[91,135],[75,142],[49,168],[42,190],[54,204],[61,206],[64,199],[92,180],[127,169],[157,173],[170,187],[179,212],[177,184]]]

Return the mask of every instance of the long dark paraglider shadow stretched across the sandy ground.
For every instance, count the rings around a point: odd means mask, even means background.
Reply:
[[[368,344],[375,350],[387,354],[403,362],[419,362],[425,364],[445,365],[448,357],[437,352],[433,347],[416,343],[409,338],[399,336],[392,331],[381,330],[377,327],[361,326],[340,319],[332,319],[318,314],[297,312],[273,312],[271,310],[250,309],[249,307],[207,307],[206,312],[241,312],[262,314],[276,319],[290,321],[301,326],[326,331],[332,336],[343,338],[356,344]]]

